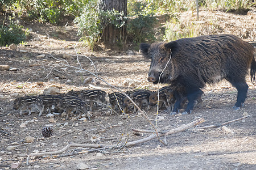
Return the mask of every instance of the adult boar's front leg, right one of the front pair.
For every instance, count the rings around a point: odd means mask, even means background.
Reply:
[[[187,95],[188,105],[187,105],[187,108],[185,109],[185,112],[183,112],[182,114],[190,114],[193,110],[195,100],[199,99],[199,97],[201,97],[201,95],[203,94],[204,92],[201,91],[200,89],[194,90],[192,92],[188,92],[188,95]]]

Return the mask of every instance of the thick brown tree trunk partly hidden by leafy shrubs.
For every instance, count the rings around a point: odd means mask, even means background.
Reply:
[[[127,0],[99,0],[99,2],[101,10],[114,9],[119,12],[123,11],[124,16],[127,15]],[[108,24],[102,32],[101,41],[104,42],[105,47],[113,48],[113,46],[123,44],[125,33],[125,27],[117,28],[113,24]]]

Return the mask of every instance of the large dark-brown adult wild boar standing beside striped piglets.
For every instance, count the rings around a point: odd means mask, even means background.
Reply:
[[[254,48],[234,35],[199,36],[151,45],[142,43],[140,48],[143,56],[152,60],[148,82],[158,83],[166,66],[160,83],[171,84],[175,92],[173,114],[180,109],[184,97],[188,105],[183,114],[191,113],[194,101],[203,94],[201,88],[222,79],[237,88],[237,103],[233,108],[240,109],[246,99],[245,76],[249,68],[251,82],[255,83]]]

